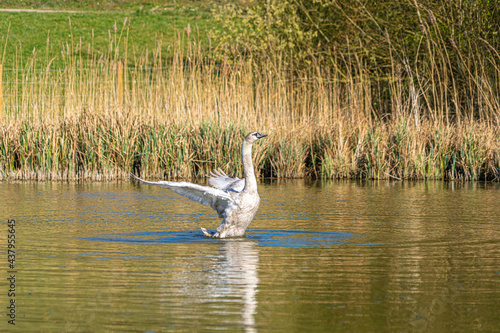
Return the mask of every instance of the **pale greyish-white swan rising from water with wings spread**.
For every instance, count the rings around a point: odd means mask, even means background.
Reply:
[[[143,184],[171,189],[188,199],[210,206],[217,212],[222,222],[213,234],[205,228],[201,228],[205,236],[213,238],[243,236],[260,205],[260,197],[259,193],[257,193],[257,179],[255,179],[252,162],[252,145],[255,141],[266,136],[266,134],[251,132],[243,140],[242,163],[245,173],[244,179],[231,178],[220,169],[210,172],[208,182],[213,187],[188,182],[150,182],[137,177],[133,173],[130,173],[130,177]]]

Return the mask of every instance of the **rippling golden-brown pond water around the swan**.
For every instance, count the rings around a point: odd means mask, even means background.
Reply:
[[[0,183],[0,331],[495,331],[500,184],[263,183],[244,238],[124,183]],[[16,326],[7,323],[7,219]]]

